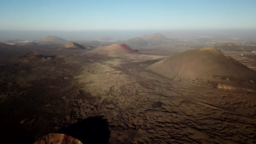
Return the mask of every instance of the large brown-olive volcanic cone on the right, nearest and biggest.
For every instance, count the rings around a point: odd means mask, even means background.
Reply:
[[[241,79],[254,80],[256,73],[214,47],[185,51],[152,64],[148,69],[174,80],[200,80],[218,87],[235,88]],[[222,82],[222,83],[217,83]],[[235,85],[235,87],[228,86]],[[250,86],[248,86],[250,87]],[[254,87],[254,85],[253,85]]]

